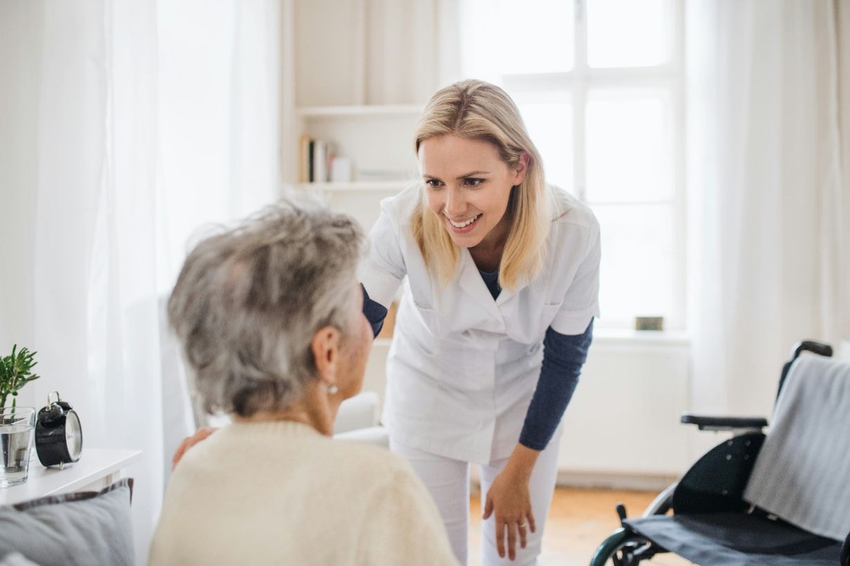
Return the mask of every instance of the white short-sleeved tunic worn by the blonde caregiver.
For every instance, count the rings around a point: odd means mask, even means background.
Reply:
[[[547,260],[536,279],[496,300],[467,249],[441,289],[411,233],[421,186],[384,199],[360,282],[389,305],[407,277],[387,361],[383,423],[397,442],[486,463],[519,441],[540,376],[549,326],[581,334],[599,316],[599,225],[590,209],[555,189]]]

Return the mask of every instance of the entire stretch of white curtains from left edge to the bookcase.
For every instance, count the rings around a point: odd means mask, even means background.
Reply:
[[[143,452],[139,563],[190,428],[161,300],[198,225],[275,199],[279,30],[272,0],[0,6],[0,351],[38,350],[22,401],[58,389],[85,446]]]

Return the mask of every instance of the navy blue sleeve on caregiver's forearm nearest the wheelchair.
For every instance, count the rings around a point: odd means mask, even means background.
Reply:
[[[593,319],[584,333],[575,336],[557,333],[552,327],[546,331],[540,378],[525,414],[519,444],[532,450],[543,450],[552,440],[579,382],[581,367],[587,360],[592,340]]]

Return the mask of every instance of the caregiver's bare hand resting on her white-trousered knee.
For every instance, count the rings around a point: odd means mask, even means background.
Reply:
[[[525,535],[530,529],[535,532],[534,514],[531,513],[529,495],[530,474],[506,466],[493,480],[487,491],[484,504],[484,520],[496,513],[496,549],[501,558],[505,558],[505,538],[507,536],[507,557],[517,557],[516,547],[525,548]]]

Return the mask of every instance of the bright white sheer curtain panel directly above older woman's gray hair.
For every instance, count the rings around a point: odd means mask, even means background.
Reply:
[[[278,193],[279,4],[159,2],[163,292],[199,227],[246,216]]]

